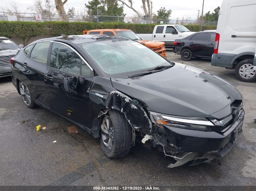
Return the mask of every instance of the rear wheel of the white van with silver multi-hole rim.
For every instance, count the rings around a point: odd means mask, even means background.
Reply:
[[[253,59],[244,59],[240,61],[236,65],[235,75],[240,81],[256,81],[256,70],[253,69]]]

